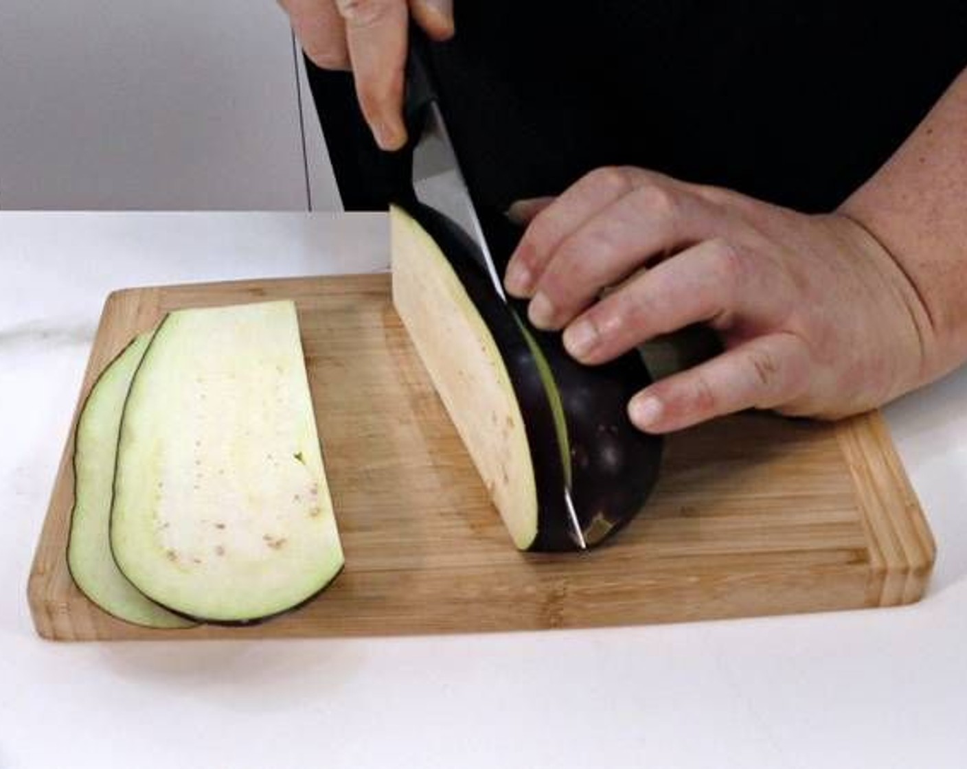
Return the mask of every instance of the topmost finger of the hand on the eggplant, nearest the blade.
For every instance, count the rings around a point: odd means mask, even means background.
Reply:
[[[599,168],[581,177],[530,223],[508,263],[507,290],[529,297],[553,251],[601,209],[642,183],[636,168]]]

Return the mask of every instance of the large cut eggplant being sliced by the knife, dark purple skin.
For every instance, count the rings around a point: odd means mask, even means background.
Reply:
[[[410,199],[391,209],[391,225],[396,310],[514,545],[580,548],[565,488],[586,545],[600,545],[644,507],[659,475],[660,438],[627,415],[651,382],[640,356],[577,363],[560,334],[538,331],[520,303],[497,295],[452,222]],[[504,266],[511,246],[491,245]],[[502,426],[485,413],[513,416]]]

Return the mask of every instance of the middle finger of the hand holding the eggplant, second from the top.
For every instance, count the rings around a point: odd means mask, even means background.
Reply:
[[[529,315],[542,329],[559,329],[601,290],[650,261],[727,231],[718,209],[664,184],[643,184],[599,211],[553,251],[535,285]],[[713,254],[723,255],[722,250]]]

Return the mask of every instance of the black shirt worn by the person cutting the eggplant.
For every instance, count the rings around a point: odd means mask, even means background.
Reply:
[[[433,46],[475,196],[503,210],[604,164],[834,208],[967,65],[967,2],[455,0]],[[386,202],[344,74],[310,68],[348,209]]]

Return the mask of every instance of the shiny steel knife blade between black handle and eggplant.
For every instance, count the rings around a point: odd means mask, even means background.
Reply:
[[[482,266],[490,276],[494,290],[506,302],[504,286],[493,265],[484,229],[477,218],[456,162],[454,145],[436,102],[427,105],[424,133],[413,151],[413,189],[421,203],[439,211],[474,241],[483,256]]]

